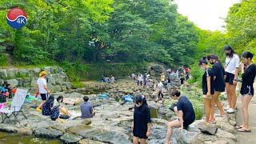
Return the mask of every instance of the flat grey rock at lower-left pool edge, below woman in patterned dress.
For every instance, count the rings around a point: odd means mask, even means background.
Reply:
[[[63,135],[62,131],[60,130],[48,130],[46,128],[38,128],[34,130],[34,134],[44,138],[58,138],[59,136]]]

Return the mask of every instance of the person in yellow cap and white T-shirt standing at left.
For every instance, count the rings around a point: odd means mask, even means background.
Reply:
[[[46,71],[41,71],[41,73],[39,74],[39,77],[40,78],[38,78],[36,90],[37,90],[37,93],[41,95],[42,102],[40,103],[36,111],[42,111],[41,108],[42,108],[42,105],[47,100],[47,94],[50,94],[50,90],[48,90],[47,83],[46,83]]]

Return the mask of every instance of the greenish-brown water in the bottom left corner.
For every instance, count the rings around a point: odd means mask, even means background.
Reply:
[[[34,136],[25,136],[0,131],[0,144],[60,144],[58,139],[36,138]]]

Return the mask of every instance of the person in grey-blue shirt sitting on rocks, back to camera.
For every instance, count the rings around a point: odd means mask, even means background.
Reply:
[[[87,96],[83,97],[84,103],[81,104],[81,118],[93,118],[94,116],[94,109],[89,101]]]

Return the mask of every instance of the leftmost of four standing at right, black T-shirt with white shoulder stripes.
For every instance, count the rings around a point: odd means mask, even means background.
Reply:
[[[210,121],[210,109],[211,109],[211,99],[214,94],[214,71],[208,66],[207,58],[203,57],[199,60],[198,66],[201,66],[202,70],[205,70],[205,73],[202,75],[202,94],[203,94],[203,103],[206,111],[205,122]]]

